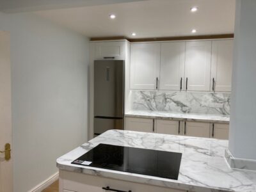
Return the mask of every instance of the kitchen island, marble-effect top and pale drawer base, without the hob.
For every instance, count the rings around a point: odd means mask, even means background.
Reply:
[[[178,180],[71,164],[99,143],[182,153]],[[57,159],[60,192],[256,191],[256,172],[231,169],[227,140],[111,130]],[[143,162],[141,162],[143,163]],[[172,162],[170,162],[172,163]],[[105,188],[105,189],[102,189]]]

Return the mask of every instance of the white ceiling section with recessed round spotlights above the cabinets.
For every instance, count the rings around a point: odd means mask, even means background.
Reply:
[[[135,38],[234,32],[235,0],[148,0],[35,12],[89,37]],[[191,6],[198,6],[191,13]],[[109,19],[115,13],[116,19]],[[134,37],[133,37],[134,38]]]

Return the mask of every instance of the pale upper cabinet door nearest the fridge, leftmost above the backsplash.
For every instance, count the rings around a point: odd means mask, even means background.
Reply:
[[[131,89],[158,88],[160,51],[160,43],[131,45]]]

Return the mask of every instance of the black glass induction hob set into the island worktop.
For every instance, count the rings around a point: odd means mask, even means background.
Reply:
[[[72,164],[178,179],[181,153],[99,144]]]

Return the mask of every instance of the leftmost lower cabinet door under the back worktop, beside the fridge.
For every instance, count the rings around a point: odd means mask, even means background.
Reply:
[[[152,118],[125,117],[125,130],[154,132],[154,120]]]

